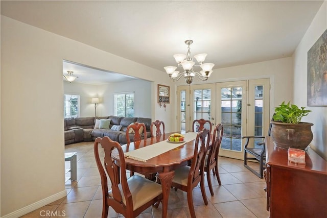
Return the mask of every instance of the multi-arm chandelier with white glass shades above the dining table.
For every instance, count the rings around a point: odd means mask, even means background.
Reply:
[[[185,44],[188,45],[188,53],[184,54],[175,54],[173,57],[177,62],[178,67],[183,67],[182,72],[176,71],[176,66],[166,66],[164,67],[167,74],[173,81],[179,80],[182,76],[184,76],[186,83],[191,84],[193,82],[193,78],[197,76],[203,81],[207,81],[213,72],[213,67],[215,64],[213,63],[203,63],[207,54],[198,54],[195,55],[194,58],[197,60],[199,65],[195,65],[193,58],[191,57],[190,45],[193,43],[193,40],[186,40]],[[200,72],[194,71],[194,66],[201,67],[202,70]]]

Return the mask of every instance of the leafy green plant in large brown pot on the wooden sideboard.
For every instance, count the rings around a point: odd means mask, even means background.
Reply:
[[[288,102],[275,107],[273,121],[271,121],[271,137],[277,147],[306,149],[313,139],[312,123],[301,122],[311,110],[299,108]]]

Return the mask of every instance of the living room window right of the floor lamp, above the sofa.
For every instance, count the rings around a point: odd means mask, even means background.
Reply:
[[[114,115],[134,117],[134,92],[114,94]]]

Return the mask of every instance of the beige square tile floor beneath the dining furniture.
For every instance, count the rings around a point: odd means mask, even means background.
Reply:
[[[78,181],[66,181],[66,197],[21,217],[101,217],[101,181],[94,158],[93,142],[69,144],[65,146],[65,152],[77,152]],[[69,167],[69,162],[66,162],[66,167]],[[249,172],[241,160],[225,157],[219,158],[219,173],[221,186],[212,175],[215,195],[211,196],[208,187],[205,188],[207,206],[203,203],[200,188],[193,190],[196,217],[269,217],[266,192],[263,190],[264,179]],[[68,179],[69,175],[66,176]],[[44,211],[52,211],[52,214]],[[108,217],[119,216],[109,209]],[[138,217],[161,217],[161,204],[158,209],[149,207]],[[185,192],[171,189],[168,217],[191,217]]]

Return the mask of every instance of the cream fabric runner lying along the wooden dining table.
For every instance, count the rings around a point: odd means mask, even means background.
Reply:
[[[158,156],[160,154],[168,152],[172,149],[182,146],[186,142],[196,139],[196,135],[197,135],[196,132],[188,132],[188,133],[184,134],[184,142],[171,143],[171,142],[168,142],[167,140],[160,141],[158,143],[152,144],[151,146],[146,146],[141,149],[136,149],[134,151],[126,152],[126,153],[124,153],[124,156],[126,158],[130,158],[133,160],[147,162],[147,160],[149,160],[155,156]]]

